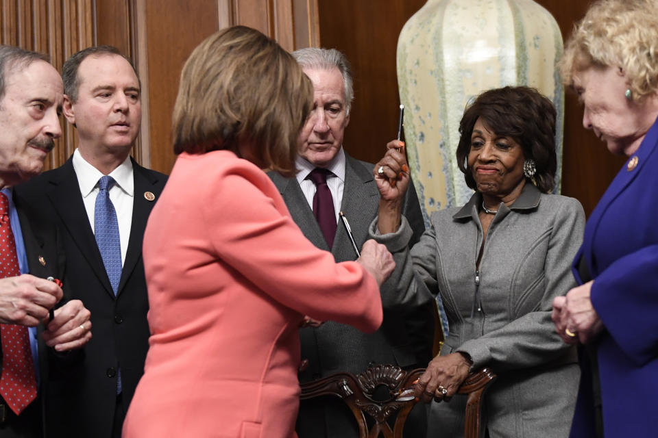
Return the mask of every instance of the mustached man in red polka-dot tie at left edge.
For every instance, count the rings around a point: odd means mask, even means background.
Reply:
[[[43,436],[49,358],[91,337],[89,311],[62,299],[64,258],[53,224],[14,196],[62,134],[62,79],[40,53],[0,46],[0,436]],[[64,279],[66,281],[66,279]],[[28,329],[29,327],[29,329]],[[45,343],[42,342],[45,340]],[[50,347],[50,348],[49,348]]]

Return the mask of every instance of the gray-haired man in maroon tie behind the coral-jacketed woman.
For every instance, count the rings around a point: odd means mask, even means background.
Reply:
[[[333,49],[301,49],[293,56],[313,81],[314,108],[300,133],[297,178],[286,179],[275,172],[269,172],[269,177],[308,240],[331,251],[336,261],[354,260],[356,251],[338,220],[339,211],[348,218],[360,249],[369,238],[368,226],[377,215],[380,197],[373,165],[358,161],[343,150],[343,132],[350,121],[353,96],[350,66],[345,56]],[[318,172],[324,173],[326,184],[313,180]],[[328,234],[316,219],[321,216],[314,209],[314,204],[318,207],[316,194],[326,188],[333,203],[329,221],[333,228]],[[415,191],[408,190],[407,195],[404,214],[414,230],[413,242],[417,242],[425,229],[424,222]],[[395,281],[395,272],[388,281]],[[434,333],[431,298],[395,294],[382,296],[382,304],[384,322],[370,335],[336,322],[302,329],[305,369],[300,372],[300,381],[341,371],[363,372],[371,361],[405,369],[426,366],[431,359]],[[410,437],[424,436],[424,414],[424,408],[419,407],[409,417],[406,430]],[[357,437],[358,429],[351,411],[341,400],[323,398],[302,401],[297,433],[300,438],[345,438]]]

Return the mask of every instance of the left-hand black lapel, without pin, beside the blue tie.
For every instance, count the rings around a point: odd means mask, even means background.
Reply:
[[[108,279],[105,266],[103,266],[103,259],[82,202],[80,184],[78,184],[75,170],[73,170],[72,159],[69,158],[62,167],[53,170],[49,175],[51,176],[49,183],[51,183],[52,188],[47,192],[47,196],[53,203],[53,208],[62,219],[64,228],[71,235],[93,272],[105,287],[106,292],[114,297],[110,279]],[[80,269],[80,266],[75,268]]]

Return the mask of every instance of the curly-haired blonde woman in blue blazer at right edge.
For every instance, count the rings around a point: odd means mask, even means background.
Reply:
[[[566,44],[561,74],[583,102],[583,125],[629,157],[585,227],[572,266],[580,286],[553,302],[557,332],[582,346],[571,436],[655,436],[657,3],[594,3]]]

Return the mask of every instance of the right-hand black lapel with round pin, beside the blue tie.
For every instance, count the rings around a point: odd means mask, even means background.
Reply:
[[[132,271],[135,269],[137,262],[142,257],[142,241],[144,239],[144,230],[146,222],[151,214],[156,199],[148,201],[145,198],[145,192],[156,192],[155,187],[158,179],[153,177],[142,166],[139,166],[131,157],[133,178],[134,178],[134,198],[132,204],[132,223],[130,224],[130,237],[128,239],[128,248],[123,262],[121,271],[121,281],[117,295],[121,294],[125,283],[130,278]],[[159,194],[158,194],[159,195]]]

